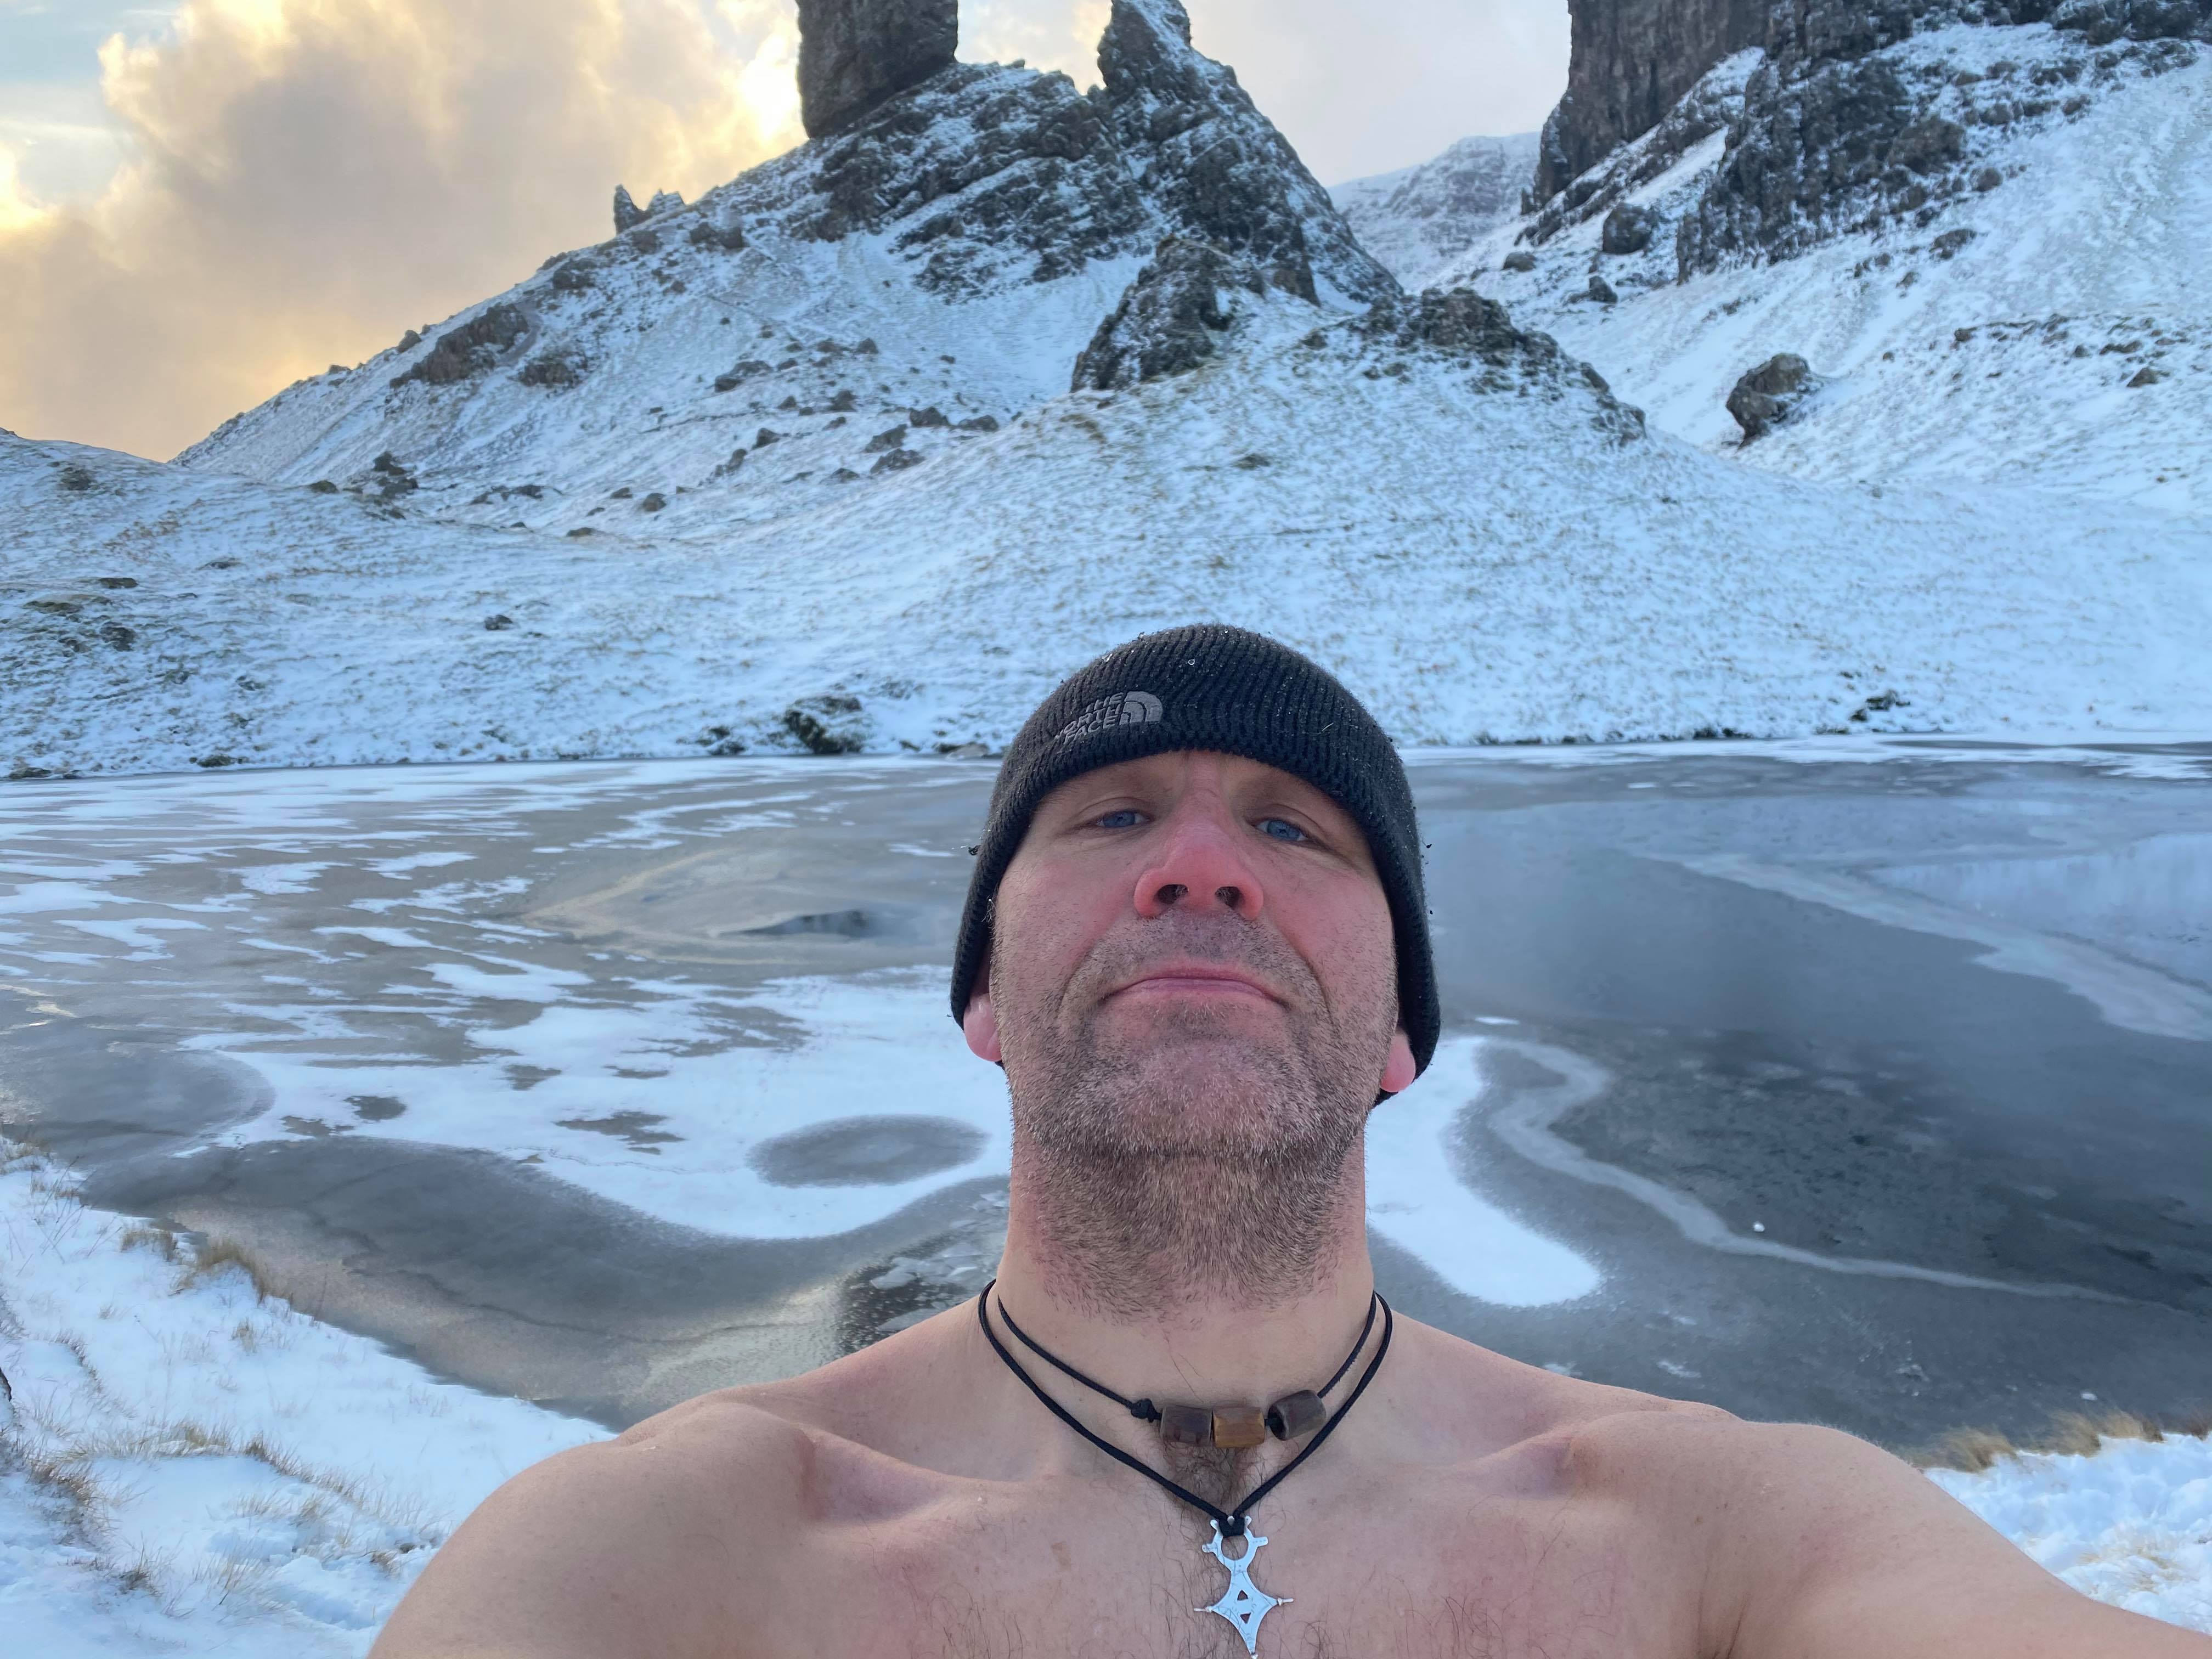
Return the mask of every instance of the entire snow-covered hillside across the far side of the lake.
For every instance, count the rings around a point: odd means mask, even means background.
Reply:
[[[2203,730],[2188,58],[1874,53],[1927,168],[1807,217],[1743,111],[1818,77],[1741,53],[1467,257],[1509,316],[1117,0],[1095,93],[942,69],[177,465],[0,436],[0,768],[995,748],[1192,617],[1405,743]]]

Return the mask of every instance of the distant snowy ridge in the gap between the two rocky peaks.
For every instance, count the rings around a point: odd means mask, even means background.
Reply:
[[[1367,252],[1418,292],[1522,210],[1535,177],[1535,133],[1464,137],[1431,161],[1352,179],[1329,195]]]

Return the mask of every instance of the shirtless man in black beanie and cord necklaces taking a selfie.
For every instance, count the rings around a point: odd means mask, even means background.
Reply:
[[[1369,1323],[1363,1126],[1438,1037],[1418,847],[1281,646],[1075,675],[953,971],[1013,1097],[998,1285],[518,1475],[374,1659],[2212,1659],[1845,1433]]]

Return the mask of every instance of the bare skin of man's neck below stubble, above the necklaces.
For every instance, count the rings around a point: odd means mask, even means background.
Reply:
[[[1276,1285],[1212,1274],[1179,1250],[1115,1267],[1095,1250],[1068,1248],[1102,1219],[1066,1214],[1051,1183],[1024,1179],[1035,1175],[1024,1164],[1018,1152],[993,1301],[1106,1387],[1161,1405],[1267,1405],[1321,1387],[1358,1338],[1374,1296],[1360,1148],[1305,1217],[1318,1232],[1318,1248],[1298,1252],[1312,1256],[1310,1267]],[[1168,1232],[1188,1243],[1219,1225],[1234,1230],[1237,1217],[1206,1214]],[[1097,1283],[1099,1272],[1117,1283]]]

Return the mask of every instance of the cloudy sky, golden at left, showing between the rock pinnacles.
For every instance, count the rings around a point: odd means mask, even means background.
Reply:
[[[1564,0],[1188,0],[1325,181],[1535,128]],[[1097,80],[1106,0],[964,0]],[[0,427],[166,460],[801,139],[792,0],[0,0]]]

